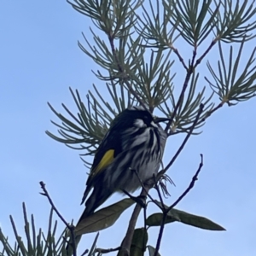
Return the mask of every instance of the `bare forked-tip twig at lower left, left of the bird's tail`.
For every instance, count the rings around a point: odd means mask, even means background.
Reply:
[[[65,220],[65,218],[62,217],[61,213],[58,211],[58,209],[55,207],[54,202],[51,200],[49,193],[47,191],[47,189],[45,188],[45,183],[43,181],[39,182],[41,185],[41,188],[43,189],[44,193],[40,193],[41,195],[44,195],[48,198],[49,204],[51,205],[51,207],[53,208],[53,210],[56,212],[56,214],[58,215],[59,218],[61,218],[61,221],[66,225],[67,229],[70,231],[71,234],[71,240],[72,240],[72,244],[71,246],[73,247],[73,256],[77,256],[77,250],[76,250],[76,244],[75,244],[75,236],[74,236],[74,228],[72,225],[68,224],[67,221]]]

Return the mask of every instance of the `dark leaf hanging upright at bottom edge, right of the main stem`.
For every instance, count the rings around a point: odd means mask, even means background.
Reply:
[[[148,242],[148,231],[144,228],[134,230],[130,255],[143,256]]]

